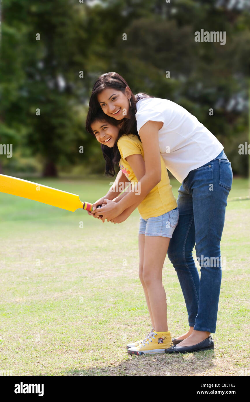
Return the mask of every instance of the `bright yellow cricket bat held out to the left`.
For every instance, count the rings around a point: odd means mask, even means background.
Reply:
[[[80,201],[79,195],[4,174],[0,174],[0,192],[18,195],[18,197],[39,201],[57,208],[67,209],[67,211],[75,212],[78,208],[92,211],[92,204]]]

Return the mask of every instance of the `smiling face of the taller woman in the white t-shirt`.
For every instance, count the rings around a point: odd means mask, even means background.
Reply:
[[[104,113],[116,120],[129,118],[129,99],[131,91],[128,87],[125,92],[118,91],[115,88],[106,88],[97,95],[98,102]],[[126,112],[126,113],[124,113]]]

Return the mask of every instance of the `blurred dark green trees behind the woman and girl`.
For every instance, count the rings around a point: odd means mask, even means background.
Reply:
[[[247,176],[249,1],[4,0],[1,14],[0,144],[13,145],[12,158],[0,155],[3,174],[103,173],[85,117],[95,80],[116,71],[134,93],[195,115]],[[195,42],[201,29],[226,31],[226,44]]]

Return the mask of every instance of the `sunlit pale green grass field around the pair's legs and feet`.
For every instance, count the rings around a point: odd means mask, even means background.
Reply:
[[[29,178],[27,178],[29,179]],[[31,179],[93,202],[109,178]],[[179,184],[171,180],[177,196]],[[249,195],[234,179],[230,198]],[[250,200],[228,202],[215,350],[132,357],[148,333],[138,278],[138,212],[114,225],[0,193],[0,370],[12,375],[250,375]],[[83,222],[83,225],[81,224]],[[83,226],[81,228],[80,226]],[[172,336],[187,312],[168,258],[163,270]]]

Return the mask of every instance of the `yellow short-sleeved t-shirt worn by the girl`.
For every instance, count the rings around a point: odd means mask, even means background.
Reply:
[[[144,152],[142,143],[134,134],[122,135],[117,142],[121,159],[119,162],[120,169],[131,183],[138,183],[138,180],[131,169],[131,166],[125,160],[130,155],[142,155],[144,160]],[[139,187],[134,187],[136,193]],[[170,185],[169,175],[165,162],[161,156],[161,181],[146,195],[144,200],[138,205],[138,211],[143,219],[163,215],[177,207],[176,199],[173,195],[172,186]]]

